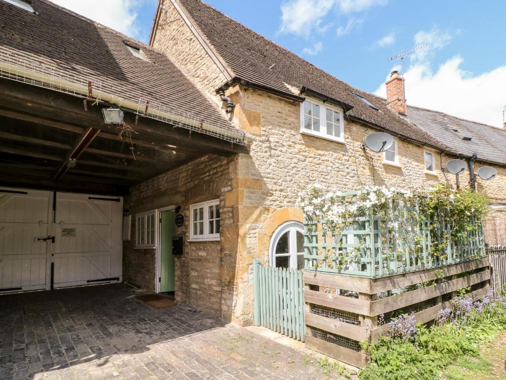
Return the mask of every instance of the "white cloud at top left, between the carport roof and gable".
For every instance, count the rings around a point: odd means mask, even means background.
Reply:
[[[81,16],[88,17],[121,33],[137,37],[137,0],[51,0]]]

